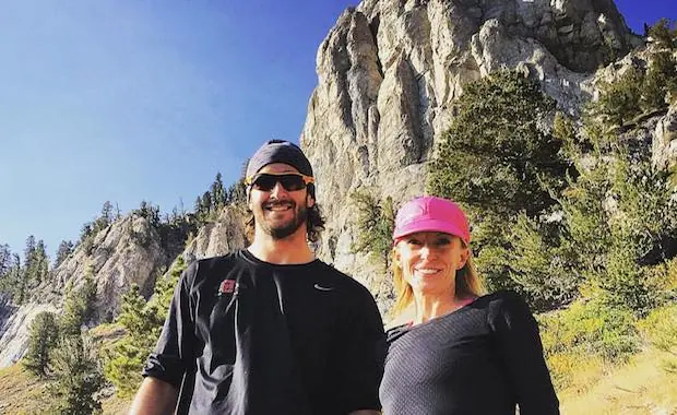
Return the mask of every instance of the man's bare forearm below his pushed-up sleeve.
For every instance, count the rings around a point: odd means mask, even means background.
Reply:
[[[164,380],[146,377],[134,396],[129,415],[174,414],[179,391]]]

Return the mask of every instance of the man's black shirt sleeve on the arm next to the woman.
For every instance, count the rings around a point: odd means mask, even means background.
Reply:
[[[353,296],[339,322],[341,344],[335,347],[337,389],[345,413],[381,410],[379,384],[383,377],[387,343],[383,321],[367,288]]]

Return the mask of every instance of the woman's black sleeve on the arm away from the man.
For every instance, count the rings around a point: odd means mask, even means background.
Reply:
[[[496,333],[520,414],[559,414],[559,402],[543,356],[538,323],[528,306],[515,293],[501,293],[490,307],[489,325]]]

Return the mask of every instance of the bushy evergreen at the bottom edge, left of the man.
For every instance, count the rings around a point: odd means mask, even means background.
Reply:
[[[73,415],[100,412],[102,405],[96,396],[105,379],[88,337],[61,337],[52,361],[56,381],[48,386],[48,390],[56,402],[51,412]]]

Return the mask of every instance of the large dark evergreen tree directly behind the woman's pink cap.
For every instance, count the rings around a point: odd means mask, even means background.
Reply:
[[[518,72],[471,83],[429,165],[428,193],[459,202],[475,225],[473,250],[489,289],[535,294],[521,280],[524,270],[512,268],[510,235],[520,215],[544,221],[567,185],[562,142],[542,127],[554,109],[538,83]],[[545,293],[558,286],[531,297],[532,305],[554,306],[549,298],[562,293]]]

